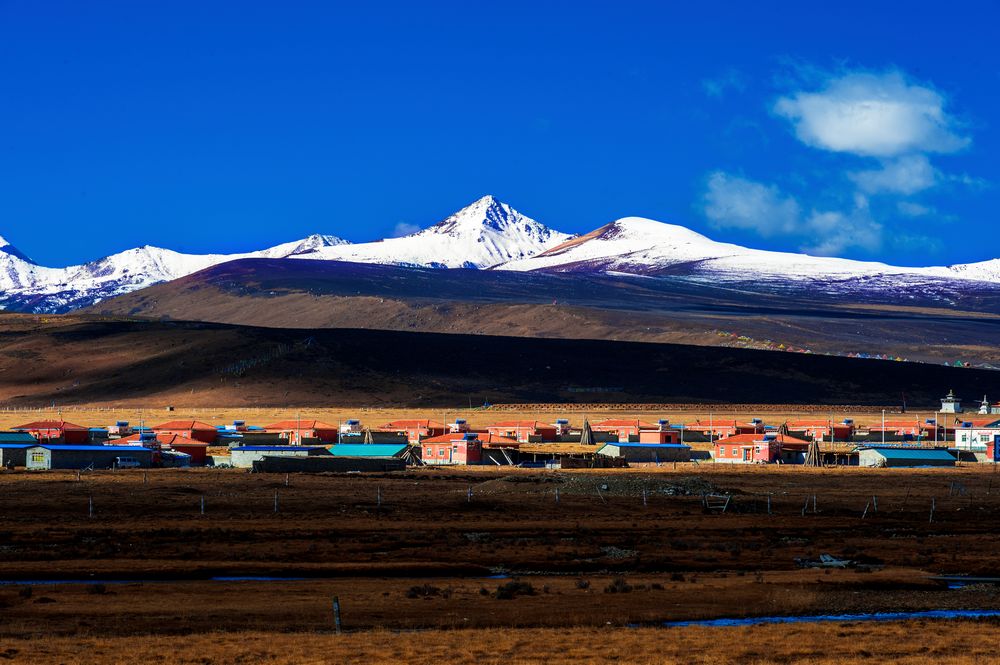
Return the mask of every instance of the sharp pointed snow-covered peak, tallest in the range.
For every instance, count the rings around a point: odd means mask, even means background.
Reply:
[[[534,256],[570,236],[484,196],[434,226],[400,238],[324,247],[299,258],[432,268],[488,268]]]

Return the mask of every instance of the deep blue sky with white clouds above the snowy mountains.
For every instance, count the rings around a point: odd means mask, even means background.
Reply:
[[[363,241],[492,193],[567,232],[1000,256],[995,2],[339,4],[0,0],[0,235]]]

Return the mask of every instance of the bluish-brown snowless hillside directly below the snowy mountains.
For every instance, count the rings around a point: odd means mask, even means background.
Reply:
[[[860,287],[858,287],[860,288]],[[434,270],[241,260],[92,312],[285,328],[617,339],[1000,365],[1000,291],[724,285],[684,276]],[[857,293],[857,289],[852,291]],[[723,330],[728,335],[720,335]],[[749,338],[739,340],[739,337]]]

